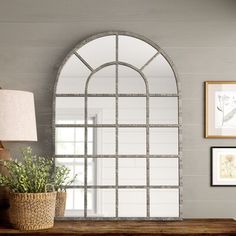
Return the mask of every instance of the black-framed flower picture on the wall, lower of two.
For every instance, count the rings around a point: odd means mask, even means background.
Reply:
[[[236,186],[236,147],[211,147],[211,186]]]

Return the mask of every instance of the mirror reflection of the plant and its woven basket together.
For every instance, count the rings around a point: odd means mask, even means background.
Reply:
[[[77,174],[70,178],[70,169],[64,165],[55,166],[53,185],[57,191],[55,217],[63,217],[66,207],[66,186],[72,184],[77,177]]]

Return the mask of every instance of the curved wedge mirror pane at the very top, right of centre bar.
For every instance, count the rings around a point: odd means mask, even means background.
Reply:
[[[141,68],[157,50],[146,42],[130,37],[119,36],[119,61]]]

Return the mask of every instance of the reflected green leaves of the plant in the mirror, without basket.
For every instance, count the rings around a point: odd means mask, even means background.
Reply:
[[[76,180],[77,174],[70,179],[70,169],[64,165],[55,166],[53,175],[53,185],[56,191],[65,191],[66,186]]]

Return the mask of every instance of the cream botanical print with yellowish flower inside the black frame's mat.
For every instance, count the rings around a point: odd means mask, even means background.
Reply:
[[[236,178],[236,155],[220,154],[220,178],[235,179]]]

